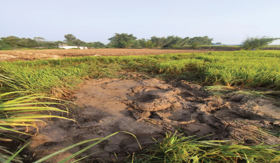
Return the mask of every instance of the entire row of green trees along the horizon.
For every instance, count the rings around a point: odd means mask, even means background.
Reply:
[[[203,45],[213,45],[213,39],[208,36],[181,38],[173,35],[167,37],[153,36],[150,39],[137,39],[137,37],[132,34],[115,33],[113,37],[108,38],[110,42],[106,45],[102,42],[81,41],[72,34],[64,35],[64,38],[64,41],[46,41],[42,37],[34,37],[33,39],[18,38],[15,36],[2,37],[0,39],[0,50],[12,48],[58,48],[60,44],[87,46],[92,48],[182,48],[188,46],[194,49]],[[247,37],[242,44],[244,49],[254,49],[268,45],[277,39],[279,38]],[[221,44],[222,43],[217,42],[214,45]]]

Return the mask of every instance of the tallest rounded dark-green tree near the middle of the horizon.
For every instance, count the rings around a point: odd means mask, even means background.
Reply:
[[[115,35],[111,38],[108,38],[110,41],[110,45],[117,48],[129,48],[133,45],[137,38],[134,37],[132,34],[128,35],[125,33]]]

